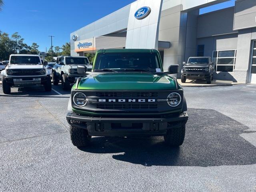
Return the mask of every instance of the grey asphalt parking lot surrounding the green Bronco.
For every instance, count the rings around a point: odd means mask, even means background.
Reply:
[[[256,85],[186,87],[180,148],[162,137],[71,144],[61,86],[0,86],[0,191],[256,191]]]

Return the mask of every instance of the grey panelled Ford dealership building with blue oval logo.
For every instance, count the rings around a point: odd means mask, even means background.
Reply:
[[[256,83],[256,0],[206,14],[226,0],[137,0],[70,34],[71,55],[110,48],[156,48],[164,70],[210,56],[215,79]],[[180,73],[178,74],[180,77]]]

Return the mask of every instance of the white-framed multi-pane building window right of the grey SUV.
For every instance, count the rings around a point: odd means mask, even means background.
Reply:
[[[216,72],[234,72],[236,64],[236,50],[213,51],[212,63]]]

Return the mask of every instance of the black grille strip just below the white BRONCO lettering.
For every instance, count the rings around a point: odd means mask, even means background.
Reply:
[[[98,109],[157,109],[157,104],[147,104],[147,103],[104,103],[104,104],[97,104],[96,108]]]

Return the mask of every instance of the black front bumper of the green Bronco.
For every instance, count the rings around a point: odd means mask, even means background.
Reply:
[[[168,129],[186,124],[188,114],[164,118],[101,118],[68,112],[66,119],[70,125],[88,130],[90,136],[161,136]]]

